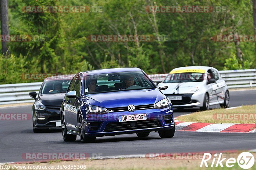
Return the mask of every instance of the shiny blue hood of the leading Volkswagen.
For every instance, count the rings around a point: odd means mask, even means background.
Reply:
[[[155,104],[164,99],[164,94],[156,88],[90,94],[86,99],[91,105],[112,108]]]

